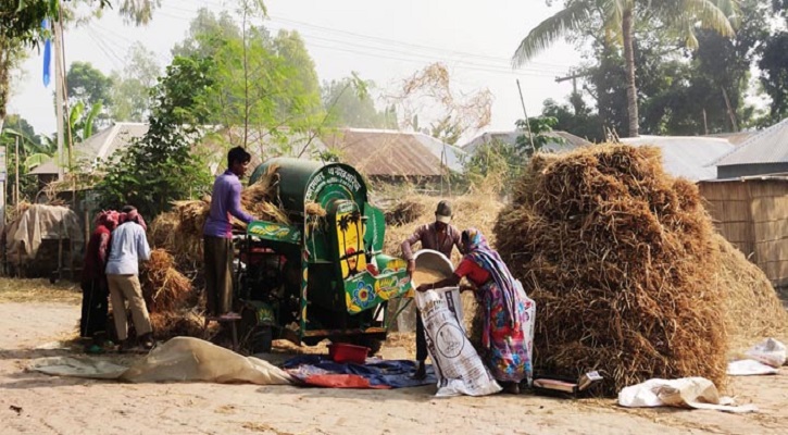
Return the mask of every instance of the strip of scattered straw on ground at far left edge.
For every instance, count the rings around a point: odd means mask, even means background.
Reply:
[[[82,303],[82,289],[76,283],[48,279],[0,278],[0,302]]]

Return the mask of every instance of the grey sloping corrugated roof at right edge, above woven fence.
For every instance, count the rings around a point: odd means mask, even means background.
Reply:
[[[759,132],[714,164],[788,163],[788,117]]]

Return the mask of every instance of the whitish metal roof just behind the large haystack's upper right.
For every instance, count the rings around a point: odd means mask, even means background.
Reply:
[[[621,141],[634,147],[660,148],[665,171],[693,182],[716,178],[716,167],[709,164],[735,148],[726,139],[700,136],[640,136]]]

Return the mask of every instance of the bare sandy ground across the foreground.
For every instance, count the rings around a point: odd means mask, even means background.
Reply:
[[[2,434],[785,434],[788,368],[739,377],[728,394],[756,414],[626,410],[612,400],[528,395],[433,397],[435,387],[342,390],[289,386],[120,384],[27,372],[36,347],[68,336],[74,303],[0,302]],[[401,350],[401,349],[400,349]],[[389,349],[397,353],[397,349]]]

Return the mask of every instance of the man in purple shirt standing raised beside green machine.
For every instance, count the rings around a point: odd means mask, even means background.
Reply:
[[[241,210],[241,182],[252,157],[241,147],[227,153],[227,171],[213,183],[211,212],[202,232],[205,241],[205,296],[208,316],[236,319],[233,312],[233,224],[232,216],[250,223]]]

